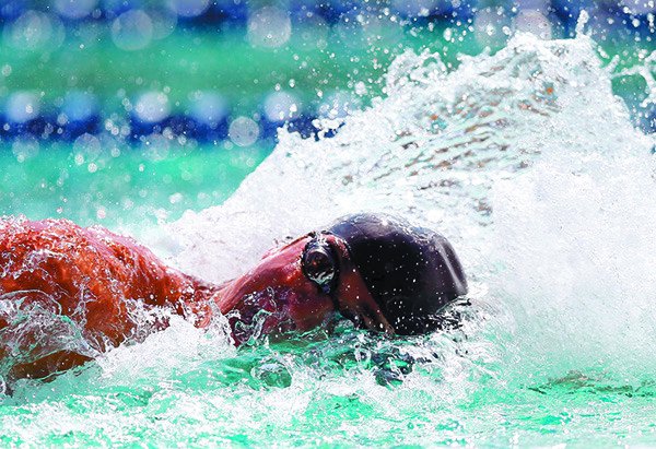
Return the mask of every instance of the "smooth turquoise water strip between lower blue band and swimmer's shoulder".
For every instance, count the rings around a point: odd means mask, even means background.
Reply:
[[[188,209],[221,204],[270,152],[267,146],[151,151],[147,144],[94,143],[4,145],[0,214],[110,228],[174,221]]]

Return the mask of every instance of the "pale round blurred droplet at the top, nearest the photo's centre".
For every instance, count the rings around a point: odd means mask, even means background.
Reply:
[[[248,17],[248,39],[262,47],[280,47],[292,35],[292,22],[286,12],[265,7]]]

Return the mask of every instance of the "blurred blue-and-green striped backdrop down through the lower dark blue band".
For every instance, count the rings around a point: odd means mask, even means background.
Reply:
[[[0,4],[0,138],[150,135],[155,146],[270,143],[285,122],[309,137],[317,117],[379,95],[385,67],[407,48],[457,63],[457,54],[493,51],[515,31],[572,37],[582,10],[594,38],[632,63],[652,47],[656,10],[652,0]]]

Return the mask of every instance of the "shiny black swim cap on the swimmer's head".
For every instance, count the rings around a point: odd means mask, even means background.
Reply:
[[[342,217],[326,233],[341,237],[380,311],[399,335],[435,330],[442,308],[467,293],[450,244],[434,231],[387,214]]]

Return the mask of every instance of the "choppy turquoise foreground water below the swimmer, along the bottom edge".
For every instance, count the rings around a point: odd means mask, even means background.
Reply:
[[[425,359],[401,375],[403,343],[363,334],[232,354],[183,334],[204,359],[166,347],[177,362],[141,353],[148,359],[114,373],[91,366],[15,386],[0,407],[3,445],[632,447],[655,438],[653,385],[599,373],[523,385],[495,378],[503,367],[475,363],[470,378],[445,379]]]

